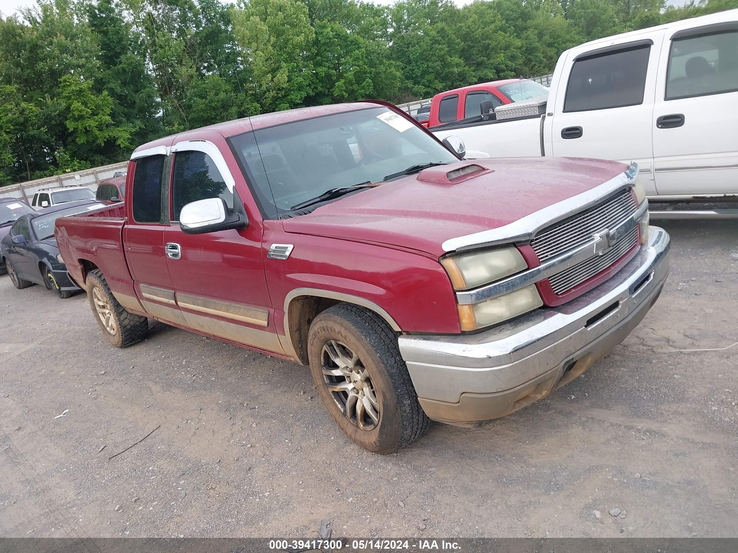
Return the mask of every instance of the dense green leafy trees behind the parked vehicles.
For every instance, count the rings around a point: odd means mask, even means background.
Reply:
[[[738,0],[36,0],[0,14],[0,186],[267,111],[406,102]]]

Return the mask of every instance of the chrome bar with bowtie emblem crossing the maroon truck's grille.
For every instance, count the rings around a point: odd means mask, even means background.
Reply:
[[[613,246],[618,240],[624,237],[628,232],[638,225],[641,217],[648,211],[648,200],[644,200],[638,209],[625,218],[618,226],[608,232],[608,243]],[[541,265],[528,269],[508,277],[506,279],[493,282],[492,284],[483,286],[482,288],[476,288],[475,290],[467,290],[456,293],[456,301],[459,305],[470,305],[479,302],[483,302],[487,299],[496,298],[497,296],[503,296],[506,293],[520,290],[535,282],[539,282],[549,277],[553,277],[555,274],[565,271],[566,269],[595,257],[599,254],[604,254],[607,250],[598,251],[599,244],[602,242],[602,236],[595,236],[589,242],[567,251],[565,254],[561,254],[558,257],[554,257],[551,260],[543,262]]]

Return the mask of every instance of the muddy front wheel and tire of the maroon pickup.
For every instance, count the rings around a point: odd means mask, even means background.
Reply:
[[[320,313],[308,359],[320,398],[356,445],[393,453],[428,428],[397,335],[373,311],[343,303]]]

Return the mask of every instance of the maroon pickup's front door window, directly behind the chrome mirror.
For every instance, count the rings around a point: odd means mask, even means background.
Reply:
[[[215,161],[204,152],[177,152],[172,178],[172,220],[179,220],[182,208],[190,202],[207,198],[222,198],[228,209],[233,209],[233,192]]]

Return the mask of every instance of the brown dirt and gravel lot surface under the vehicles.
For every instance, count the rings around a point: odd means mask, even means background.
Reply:
[[[738,225],[663,226],[672,274],[607,358],[392,456],[304,367],[159,324],[114,349],[86,296],[0,277],[0,535],[736,537],[738,346],[674,350],[738,341]]]

